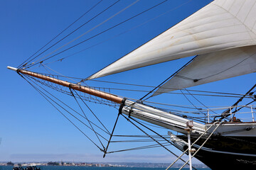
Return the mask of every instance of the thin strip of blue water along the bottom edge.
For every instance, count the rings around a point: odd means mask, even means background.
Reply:
[[[165,170],[165,168],[129,168],[129,167],[85,167],[85,166],[38,166],[41,170]],[[13,166],[0,166],[0,170],[12,170]],[[171,168],[170,170],[178,170]],[[184,168],[188,170],[188,168]],[[198,169],[210,170],[210,169]]]

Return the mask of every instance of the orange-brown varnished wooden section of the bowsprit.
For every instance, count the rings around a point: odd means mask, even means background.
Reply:
[[[104,91],[97,91],[95,89],[90,89],[90,88],[87,88],[85,86],[80,86],[78,84],[72,84],[68,81],[63,81],[63,80],[60,80],[60,79],[54,79],[52,77],[47,77],[47,76],[44,76],[42,74],[38,74],[38,73],[35,73],[35,72],[29,72],[29,71],[22,70],[22,69],[17,69],[16,72],[20,72],[22,74],[27,74],[31,77],[36,77],[38,79],[43,79],[43,80],[46,80],[46,81],[50,81],[50,82],[53,82],[55,84],[60,84],[61,86],[70,87],[71,89],[75,89],[77,91],[82,91],[85,94],[90,94],[92,96],[105,98],[106,100],[113,101],[115,103],[121,103],[122,99],[123,99],[123,98],[120,98],[120,97],[115,96],[113,94],[107,94]]]

